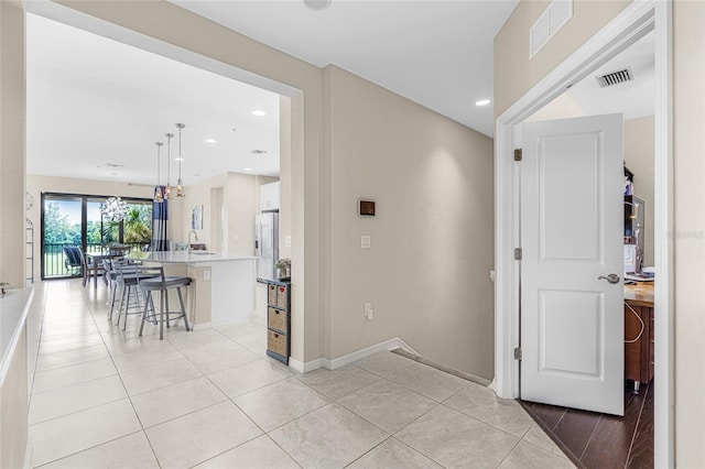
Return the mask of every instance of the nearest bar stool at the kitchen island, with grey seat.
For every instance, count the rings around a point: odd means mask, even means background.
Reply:
[[[181,288],[191,285],[192,279],[188,276],[164,276],[164,268],[162,266],[141,266],[137,271],[138,284],[144,291],[144,309],[142,312],[142,324],[140,325],[140,337],[144,329],[144,323],[153,318],[159,321],[159,338],[164,338],[164,323],[166,327],[171,327],[171,320],[177,320],[184,318],[184,325],[186,330],[191,330],[188,326],[188,317],[186,315],[186,307],[184,306],[184,296],[181,293]],[[169,309],[169,291],[176,290],[178,294],[178,303],[181,304],[181,310]],[[160,293],[160,312],[159,316],[154,308],[153,292]],[[152,307],[152,314],[148,315]],[[170,318],[170,315],[176,315],[174,318]]]

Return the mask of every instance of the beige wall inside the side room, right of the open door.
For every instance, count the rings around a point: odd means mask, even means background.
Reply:
[[[653,116],[625,121],[625,162],[634,173],[634,195],[647,206],[643,265],[653,265]]]

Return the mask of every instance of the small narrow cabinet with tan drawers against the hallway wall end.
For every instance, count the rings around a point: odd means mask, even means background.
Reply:
[[[291,283],[267,282],[267,355],[289,364]]]

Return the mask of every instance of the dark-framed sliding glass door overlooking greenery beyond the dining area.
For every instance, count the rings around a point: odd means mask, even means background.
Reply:
[[[70,249],[100,252],[115,244],[133,250],[149,247],[152,238],[152,200],[123,198],[128,211],[122,221],[104,217],[100,208],[108,197],[74,194],[42,194],[42,280],[82,276],[83,270]]]

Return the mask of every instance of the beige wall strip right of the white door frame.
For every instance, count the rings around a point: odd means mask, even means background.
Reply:
[[[673,7],[675,461],[705,467],[705,2]]]

